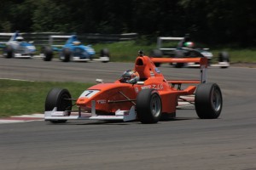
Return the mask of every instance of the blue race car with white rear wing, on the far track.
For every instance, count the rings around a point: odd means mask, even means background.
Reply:
[[[54,38],[68,38],[64,45],[55,45]],[[50,36],[49,46],[42,48],[44,61],[50,61],[54,53],[59,54],[59,58],[64,62],[69,61],[90,61],[97,60],[102,62],[109,61],[109,51],[107,48],[101,50],[99,59],[95,58],[96,52],[90,45],[83,45],[76,35],[72,36]]]

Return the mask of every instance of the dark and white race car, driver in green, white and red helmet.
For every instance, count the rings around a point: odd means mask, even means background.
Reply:
[[[179,41],[176,48],[163,48],[163,41]],[[194,42],[191,41],[187,35],[185,37],[158,37],[157,49],[154,49],[153,57],[162,57],[168,55],[174,58],[195,58],[205,57],[208,59],[208,65],[218,66],[220,68],[227,68],[230,66],[230,56],[227,52],[220,52],[218,54],[218,64],[212,65],[213,54],[209,51],[209,48],[195,48]],[[160,66],[160,63],[155,65]],[[183,66],[199,66],[198,63],[172,63],[177,68]]]

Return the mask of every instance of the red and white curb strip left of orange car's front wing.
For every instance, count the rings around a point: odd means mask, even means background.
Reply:
[[[15,122],[33,122],[33,121],[44,121],[44,114],[0,117],[0,124],[15,123]]]

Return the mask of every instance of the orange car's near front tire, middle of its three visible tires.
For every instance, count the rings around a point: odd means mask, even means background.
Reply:
[[[162,114],[162,102],[157,90],[143,89],[137,95],[136,110],[142,123],[157,123]]]

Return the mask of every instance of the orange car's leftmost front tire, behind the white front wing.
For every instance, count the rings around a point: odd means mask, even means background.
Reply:
[[[44,111],[52,111],[57,107],[57,111],[68,111],[70,115],[72,110],[71,94],[67,89],[52,88],[45,99]],[[53,123],[67,122],[67,120],[54,120]]]

